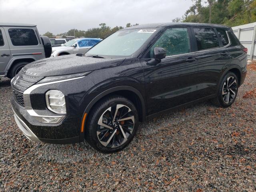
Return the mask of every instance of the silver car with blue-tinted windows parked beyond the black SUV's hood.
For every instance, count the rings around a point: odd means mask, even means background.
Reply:
[[[69,54],[84,54],[86,53],[92,46],[100,42],[102,39],[100,38],[81,38],[81,39],[73,39],[59,47],[52,48],[52,57],[69,55]]]

